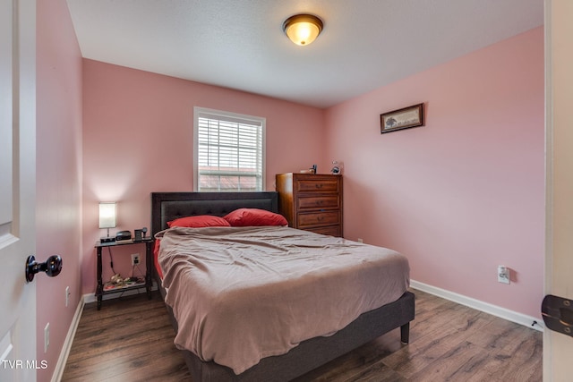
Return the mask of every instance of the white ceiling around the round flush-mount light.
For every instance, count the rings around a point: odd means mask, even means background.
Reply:
[[[328,107],[543,25],[543,0],[67,0],[85,58]],[[282,30],[312,13],[298,47]]]

